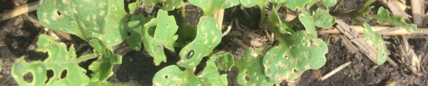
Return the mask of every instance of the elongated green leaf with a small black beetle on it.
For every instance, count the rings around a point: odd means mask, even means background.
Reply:
[[[202,16],[199,20],[196,38],[184,46],[177,65],[192,68],[199,64],[203,57],[209,56],[221,41],[221,30],[217,21],[211,16]],[[190,54],[193,53],[193,54]]]

